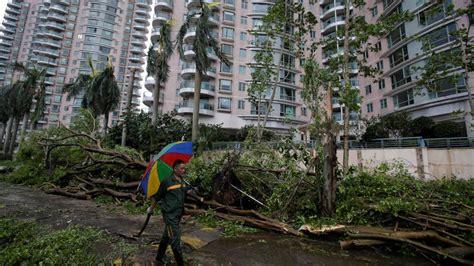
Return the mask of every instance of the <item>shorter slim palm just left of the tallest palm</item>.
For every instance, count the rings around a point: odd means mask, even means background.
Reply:
[[[153,90],[153,109],[151,123],[156,125],[158,117],[158,106],[160,100],[160,89],[162,85],[165,85],[168,81],[170,66],[168,61],[173,54],[173,44],[171,42],[171,27],[172,22],[167,21],[160,29],[160,36],[155,45],[157,50],[155,51],[153,45],[148,50],[148,60],[146,71],[148,75],[155,75],[155,89]]]

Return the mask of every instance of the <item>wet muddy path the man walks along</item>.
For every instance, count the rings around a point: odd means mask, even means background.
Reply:
[[[53,229],[70,224],[93,226],[128,243],[140,245],[127,264],[154,265],[163,222],[152,217],[142,237],[137,233],[144,215],[130,215],[119,206],[75,200],[6,183],[0,183],[0,217],[30,220]],[[429,265],[422,258],[399,257],[375,250],[342,251],[337,242],[318,241],[260,232],[223,238],[195,219],[183,222],[182,240],[191,265]]]

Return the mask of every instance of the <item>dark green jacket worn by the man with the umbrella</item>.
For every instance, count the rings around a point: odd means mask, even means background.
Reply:
[[[180,217],[183,213],[184,200],[188,189],[184,181],[179,181],[175,176],[170,176],[161,182],[158,192],[153,195],[153,198],[157,202],[161,200],[160,206],[163,215]]]

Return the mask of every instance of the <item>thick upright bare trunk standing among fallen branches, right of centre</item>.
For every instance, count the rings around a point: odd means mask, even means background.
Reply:
[[[321,191],[321,212],[325,216],[331,216],[336,211],[336,139],[333,133],[332,119],[332,84],[328,86],[327,95],[327,128],[323,137],[323,176],[324,186]]]

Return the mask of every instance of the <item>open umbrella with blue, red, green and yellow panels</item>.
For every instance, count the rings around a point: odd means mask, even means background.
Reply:
[[[168,144],[154,160],[152,160],[143,175],[139,187],[146,198],[153,196],[160,187],[161,181],[173,174],[173,164],[176,160],[187,163],[193,156],[193,143],[191,141],[180,141]]]

